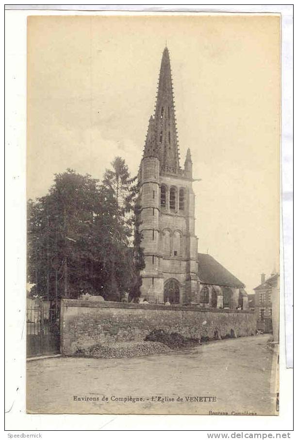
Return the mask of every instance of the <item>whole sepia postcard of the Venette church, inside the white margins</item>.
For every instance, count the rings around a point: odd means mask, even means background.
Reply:
[[[28,17],[28,413],[279,414],[280,24]]]

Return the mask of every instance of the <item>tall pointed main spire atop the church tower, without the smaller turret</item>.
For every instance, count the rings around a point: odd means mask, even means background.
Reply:
[[[161,170],[178,170],[179,152],[176,132],[175,105],[171,77],[170,57],[164,49],[160,68],[156,107],[154,114],[156,143],[159,149]]]

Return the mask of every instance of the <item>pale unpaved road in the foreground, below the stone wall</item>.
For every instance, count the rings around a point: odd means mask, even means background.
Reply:
[[[132,359],[58,357],[30,361],[27,362],[27,411],[275,414],[276,396],[270,387],[274,356],[265,347],[267,340],[268,335],[249,336]],[[115,397],[130,396],[144,401],[113,401]],[[155,396],[174,401],[163,403],[154,400]],[[186,402],[190,396],[200,396],[203,401]],[[208,402],[209,397],[216,400]]]

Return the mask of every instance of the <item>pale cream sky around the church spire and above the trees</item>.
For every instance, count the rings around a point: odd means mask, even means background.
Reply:
[[[252,293],[279,264],[279,38],[277,16],[30,18],[28,197],[116,155],[136,173],[167,40],[199,252]]]

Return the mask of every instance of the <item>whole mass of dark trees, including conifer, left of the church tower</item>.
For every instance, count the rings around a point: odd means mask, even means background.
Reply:
[[[44,197],[28,201],[28,282],[50,300],[139,296],[144,267],[137,231],[138,185],[115,158],[100,183],[68,169]]]

